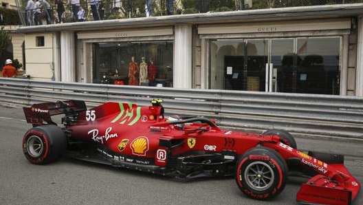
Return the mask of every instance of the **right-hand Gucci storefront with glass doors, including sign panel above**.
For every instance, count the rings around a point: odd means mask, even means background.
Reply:
[[[208,41],[208,87],[339,95],[342,37],[350,21],[201,26]]]

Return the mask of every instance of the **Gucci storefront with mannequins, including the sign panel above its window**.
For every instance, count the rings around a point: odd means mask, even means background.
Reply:
[[[79,32],[78,39],[91,58],[87,82],[173,87],[171,28]]]

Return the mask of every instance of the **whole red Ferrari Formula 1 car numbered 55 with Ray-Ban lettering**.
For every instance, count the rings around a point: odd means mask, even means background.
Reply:
[[[303,204],[346,205],[358,195],[361,185],[342,155],[299,151],[283,130],[245,133],[220,129],[201,116],[166,118],[162,100],[151,103],[87,109],[84,101],[67,100],[24,107],[33,127],[23,138],[23,153],[33,164],[67,155],[170,177],[234,176],[254,199],[276,197],[289,173],[311,177],[296,197]],[[61,122],[54,122],[60,114]]]

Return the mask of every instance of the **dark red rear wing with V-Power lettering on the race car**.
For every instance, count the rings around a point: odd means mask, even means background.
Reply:
[[[25,118],[32,125],[54,124],[51,116],[65,114],[66,116],[74,116],[80,111],[87,110],[85,101],[83,100],[66,100],[57,102],[45,102],[34,104],[32,107],[23,107]]]

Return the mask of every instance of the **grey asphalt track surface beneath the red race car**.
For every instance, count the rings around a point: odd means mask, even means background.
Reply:
[[[0,105],[0,204],[298,204],[296,193],[305,180],[289,179],[273,200],[248,199],[232,177],[188,182],[168,177],[62,158],[34,165],[25,159],[21,141],[31,128],[21,108]],[[345,155],[345,166],[363,183],[363,141],[296,138],[302,150]],[[363,204],[362,191],[353,205]]]

